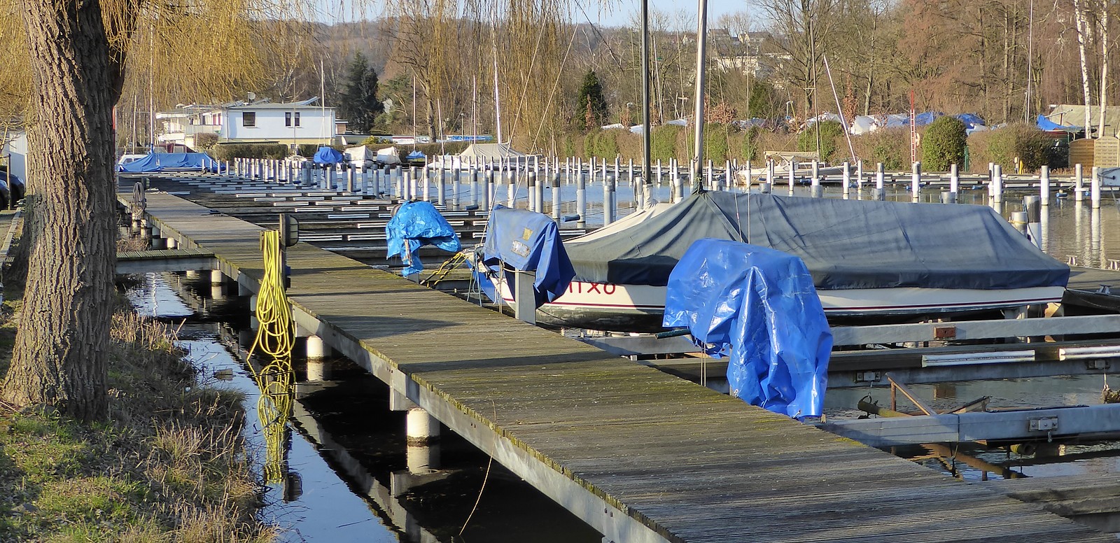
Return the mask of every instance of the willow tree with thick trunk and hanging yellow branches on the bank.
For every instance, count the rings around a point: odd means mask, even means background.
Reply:
[[[113,106],[138,66],[148,67],[149,104],[157,90],[213,96],[253,79],[251,13],[280,7],[250,1],[21,0],[0,11],[0,50],[21,59],[0,88],[22,90],[11,99],[30,150],[27,281],[4,401],[87,421],[106,415]]]

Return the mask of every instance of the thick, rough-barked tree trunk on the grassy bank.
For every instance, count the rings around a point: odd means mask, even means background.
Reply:
[[[108,414],[120,65],[110,59],[96,0],[25,0],[22,12],[35,82],[27,186],[34,213],[24,225],[27,288],[0,395],[96,420]]]

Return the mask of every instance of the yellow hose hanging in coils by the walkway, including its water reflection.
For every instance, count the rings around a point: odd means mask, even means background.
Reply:
[[[291,306],[283,289],[283,259],[279,232],[261,233],[261,253],[264,258],[264,278],[261,280],[261,290],[256,293],[256,320],[260,325],[249,356],[253,356],[260,348],[270,358],[268,365],[260,372],[253,369],[253,378],[261,388],[256,412],[264,432],[264,481],[280,484],[287,471],[284,449],[296,375],[291,367],[291,348],[295,340],[291,329]],[[253,365],[250,364],[250,367]]]

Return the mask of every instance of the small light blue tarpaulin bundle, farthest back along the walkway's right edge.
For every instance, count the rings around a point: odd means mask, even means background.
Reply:
[[[427,202],[407,202],[385,225],[385,236],[389,238],[389,255],[398,254],[404,262],[401,275],[409,277],[423,271],[420,255],[417,251],[421,245],[436,245],[444,251],[456,252],[461,245],[459,236],[447,224],[447,219]]]

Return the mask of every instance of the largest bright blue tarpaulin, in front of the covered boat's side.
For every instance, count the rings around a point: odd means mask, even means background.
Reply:
[[[821,415],[832,334],[797,256],[698,240],[670,274],[663,324],[728,356],[732,395],[795,419]]]

